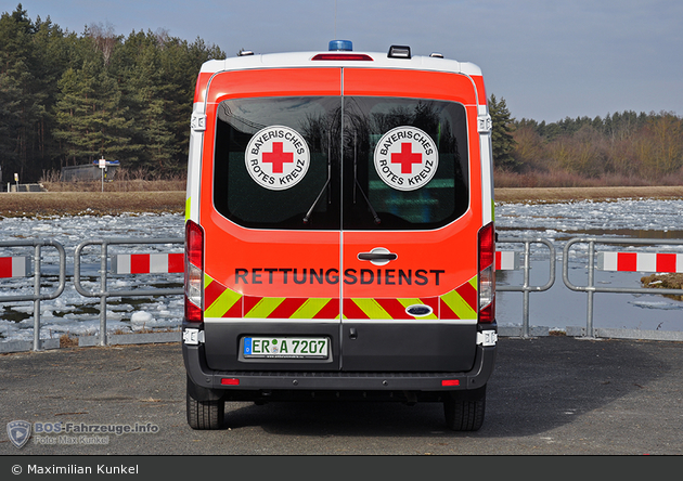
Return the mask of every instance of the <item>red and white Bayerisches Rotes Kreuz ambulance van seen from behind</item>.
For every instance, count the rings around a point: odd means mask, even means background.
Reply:
[[[479,429],[497,324],[476,65],[344,40],[207,62],[185,217],[192,428],[225,401],[359,399]]]

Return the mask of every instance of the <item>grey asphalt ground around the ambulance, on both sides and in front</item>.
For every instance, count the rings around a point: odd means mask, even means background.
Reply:
[[[680,455],[682,399],[681,342],[502,338],[477,432],[447,430],[439,403],[357,402],[227,403],[222,430],[194,431],[179,343],[72,348],[0,355],[0,455],[2,466],[23,455]],[[34,427],[21,448],[4,429],[14,420]]]

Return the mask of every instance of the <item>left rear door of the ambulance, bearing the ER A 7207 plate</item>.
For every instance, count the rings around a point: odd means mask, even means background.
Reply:
[[[339,368],[340,92],[339,68],[209,82],[201,223],[211,368]],[[272,347],[281,336],[327,338],[330,355],[246,355],[245,339]]]

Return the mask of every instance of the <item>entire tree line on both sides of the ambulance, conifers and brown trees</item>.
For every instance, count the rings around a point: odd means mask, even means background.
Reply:
[[[199,67],[224,58],[201,38],[165,30],[82,34],[20,3],[0,16],[0,172],[36,182],[46,172],[104,156],[130,170],[184,171],[189,119]],[[622,112],[546,123],[516,120],[489,98],[497,179],[519,186],[683,183],[683,119]]]

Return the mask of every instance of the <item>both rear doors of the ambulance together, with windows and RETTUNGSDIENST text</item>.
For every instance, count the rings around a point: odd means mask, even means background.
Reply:
[[[472,366],[481,173],[468,77],[225,72],[206,113],[209,367]],[[331,355],[246,359],[259,336],[325,337]]]

